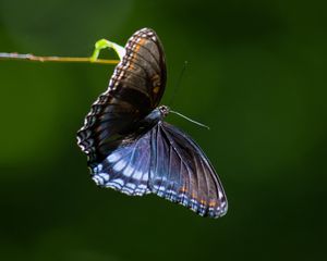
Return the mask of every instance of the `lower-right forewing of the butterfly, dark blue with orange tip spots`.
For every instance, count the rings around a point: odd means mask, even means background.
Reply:
[[[227,212],[222,185],[207,157],[191,137],[165,122],[152,130],[149,188],[199,215]]]

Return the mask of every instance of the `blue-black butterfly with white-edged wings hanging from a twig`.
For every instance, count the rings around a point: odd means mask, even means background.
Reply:
[[[167,72],[162,45],[143,28],[125,45],[108,89],[93,103],[77,145],[92,178],[131,196],[156,194],[202,216],[219,217],[226,194],[208,158],[184,132],[164,121]]]

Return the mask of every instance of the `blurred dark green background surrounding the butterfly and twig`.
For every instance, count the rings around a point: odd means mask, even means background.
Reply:
[[[326,258],[324,1],[0,1],[0,51],[90,55],[154,28],[173,109],[225,185],[229,212],[199,217],[92,182],[75,134],[112,65],[0,61],[1,260]],[[105,57],[114,58],[113,52]],[[184,61],[186,72],[177,91]]]

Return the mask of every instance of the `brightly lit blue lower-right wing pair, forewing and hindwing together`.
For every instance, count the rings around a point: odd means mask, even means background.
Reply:
[[[159,122],[92,169],[98,186],[142,196],[157,194],[199,215],[219,217],[228,203],[214,167],[191,137]]]

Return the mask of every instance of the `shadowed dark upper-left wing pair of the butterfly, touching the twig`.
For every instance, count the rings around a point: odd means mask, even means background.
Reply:
[[[135,123],[158,105],[165,86],[162,45],[154,30],[141,29],[129,39],[107,91],[94,102],[77,133],[89,164],[101,162],[126,137],[135,139]]]

